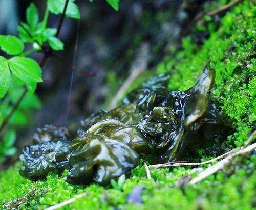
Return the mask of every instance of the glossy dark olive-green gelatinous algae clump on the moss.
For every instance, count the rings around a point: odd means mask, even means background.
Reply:
[[[159,162],[174,161],[186,149],[218,137],[222,112],[208,98],[215,70],[206,67],[195,86],[184,92],[168,90],[168,81],[166,74],[153,77],[121,106],[92,114],[81,122],[75,139],[65,128],[38,129],[34,145],[20,155],[20,174],[37,180],[68,169],[69,183],[107,185],[129,174],[139,163],[139,153],[154,154]]]

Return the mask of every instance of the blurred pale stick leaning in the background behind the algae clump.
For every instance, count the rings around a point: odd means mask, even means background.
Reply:
[[[131,86],[131,84],[136,80],[136,78],[141,74],[141,72],[146,69],[149,58],[148,54],[149,45],[148,43],[143,43],[140,50],[138,51],[135,61],[133,62],[131,74],[125,80],[120,89],[117,91],[108,109],[113,109],[116,107],[117,103],[122,98],[123,93]]]

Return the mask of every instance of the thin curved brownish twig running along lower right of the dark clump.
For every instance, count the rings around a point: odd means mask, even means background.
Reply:
[[[228,152],[226,152],[225,154],[222,154],[214,159],[208,160],[208,161],[204,161],[204,162],[199,162],[199,163],[189,163],[189,162],[185,162],[185,161],[175,161],[175,162],[169,162],[169,163],[164,163],[164,164],[156,164],[156,165],[150,165],[150,167],[153,168],[162,168],[162,167],[172,167],[172,166],[199,166],[199,165],[203,165],[203,164],[208,164],[208,163],[212,163],[214,161],[217,161],[219,159],[224,158],[225,156],[232,154],[236,151],[238,151],[239,148],[235,148],[232,149]]]

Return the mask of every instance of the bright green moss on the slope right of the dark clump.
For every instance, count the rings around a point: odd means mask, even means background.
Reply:
[[[232,120],[236,132],[228,140],[236,146],[255,130],[255,11],[250,1],[234,7],[201,48],[186,37],[175,58],[158,66],[158,72],[172,73],[169,88],[180,90],[193,86],[205,65],[216,70],[212,97]]]

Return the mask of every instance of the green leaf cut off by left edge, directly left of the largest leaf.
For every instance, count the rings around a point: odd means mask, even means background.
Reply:
[[[8,67],[8,60],[0,56],[0,98],[3,98],[10,86],[11,74]]]

